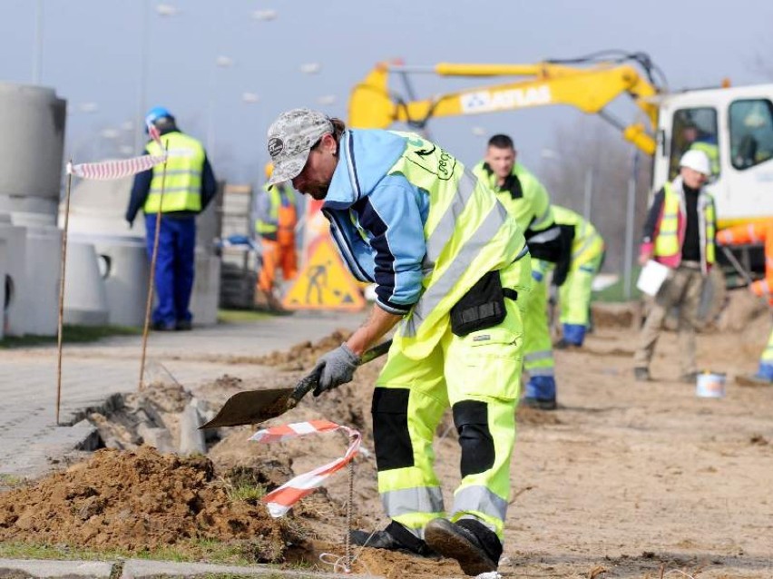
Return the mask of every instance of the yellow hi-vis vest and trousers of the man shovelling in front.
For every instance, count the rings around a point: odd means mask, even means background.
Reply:
[[[528,251],[515,221],[484,183],[433,143],[406,137],[406,151],[389,174],[403,174],[429,195],[428,273],[374,391],[378,491],[386,515],[419,537],[430,520],[445,515],[432,442],[450,405],[462,447],[462,480],[449,518],[475,516],[502,536],[523,363],[523,308],[531,285]],[[492,270],[499,270],[503,287],[517,291],[518,298],[504,299],[507,315],[500,324],[456,336],[449,310]]]

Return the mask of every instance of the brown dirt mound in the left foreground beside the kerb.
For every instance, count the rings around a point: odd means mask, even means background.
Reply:
[[[138,554],[202,539],[242,543],[276,561],[304,537],[257,501],[232,499],[206,457],[97,451],[34,486],[0,496],[0,541],[68,544]]]

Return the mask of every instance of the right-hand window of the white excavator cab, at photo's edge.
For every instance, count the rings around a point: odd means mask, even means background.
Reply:
[[[730,160],[739,171],[773,157],[773,104],[768,99],[730,103]]]

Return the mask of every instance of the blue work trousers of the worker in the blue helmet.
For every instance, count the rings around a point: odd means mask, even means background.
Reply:
[[[148,259],[152,260],[156,214],[145,216]],[[193,290],[196,254],[196,218],[175,219],[161,216],[159,253],[156,258],[155,288],[157,306],[153,324],[174,327],[180,321],[191,321],[188,305]]]

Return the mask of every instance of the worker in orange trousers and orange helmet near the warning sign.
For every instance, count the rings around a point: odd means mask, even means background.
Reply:
[[[273,164],[266,165],[266,179],[271,178]],[[298,224],[298,205],[295,192],[288,182],[269,186],[259,193],[255,232],[262,246],[262,267],[258,277],[258,289],[269,300],[269,306],[280,309],[274,294],[277,270],[282,270],[283,280],[293,280],[298,273],[298,256],[295,243],[295,227]]]

